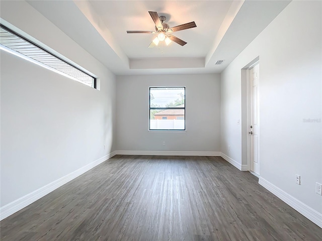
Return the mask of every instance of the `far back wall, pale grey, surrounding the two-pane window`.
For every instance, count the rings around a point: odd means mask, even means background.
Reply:
[[[186,86],[186,132],[148,131],[149,86]],[[116,96],[117,150],[220,151],[218,74],[117,76]]]

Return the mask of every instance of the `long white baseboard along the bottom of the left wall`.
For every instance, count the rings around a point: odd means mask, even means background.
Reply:
[[[107,159],[113,157],[116,155],[116,152],[112,152],[104,157],[101,157],[100,159],[91,162],[87,164],[84,167],[81,167],[66,176],[63,176],[21,198],[18,198],[17,200],[8,203],[7,205],[0,208],[0,220],[10,216],[11,214],[14,214],[15,212],[23,209],[24,207],[28,206],[29,204],[37,201],[38,199],[42,198],[43,196],[47,195],[48,193],[52,192],[53,190],[57,189],[58,187],[66,184],[67,182],[71,181],[72,179],[82,175],[83,173],[91,170],[93,167],[96,167],[97,165],[101,164],[102,162],[106,161]]]

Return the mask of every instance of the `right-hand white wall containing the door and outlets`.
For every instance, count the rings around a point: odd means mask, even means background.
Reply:
[[[222,72],[220,141],[221,151],[241,163],[241,69],[259,56],[261,178],[319,213],[321,23],[320,1],[293,1]],[[308,118],[319,122],[303,122]]]

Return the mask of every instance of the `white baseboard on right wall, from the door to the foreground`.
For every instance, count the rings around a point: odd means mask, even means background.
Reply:
[[[291,196],[287,192],[283,191],[282,189],[278,188],[277,186],[275,186],[274,184],[270,183],[262,177],[259,178],[258,183],[265,187],[267,190],[269,190],[271,193],[276,195],[282,201],[290,205],[296,211],[301,213],[303,216],[314,222],[317,226],[322,228],[322,213],[315,211],[311,207],[302,203],[300,200]]]

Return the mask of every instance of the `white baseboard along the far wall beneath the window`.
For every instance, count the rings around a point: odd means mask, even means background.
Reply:
[[[177,152],[177,151],[116,151],[117,155],[142,156],[210,156],[220,157],[220,152]]]

